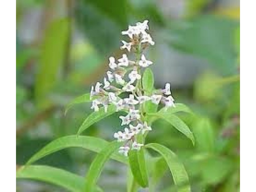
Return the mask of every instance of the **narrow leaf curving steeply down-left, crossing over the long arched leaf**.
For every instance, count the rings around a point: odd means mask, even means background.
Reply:
[[[100,176],[104,164],[109,159],[112,153],[114,153],[123,142],[112,141],[105,148],[103,148],[100,153],[94,158],[89,171],[85,176],[85,190],[86,192],[91,192],[92,188],[96,185],[96,182]]]

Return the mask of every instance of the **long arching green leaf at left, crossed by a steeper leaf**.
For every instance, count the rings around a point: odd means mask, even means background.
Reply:
[[[70,135],[61,137],[59,139],[56,139],[46,145],[44,148],[42,148],[40,151],[38,151],[35,155],[33,155],[27,162],[28,164],[32,164],[33,162],[37,161],[38,159],[49,155],[51,153],[54,153],[56,151],[59,151],[64,148],[69,147],[81,147],[85,148],[94,152],[100,152],[102,148],[108,145],[109,142],[97,138],[97,137],[89,137],[89,136],[76,136],[76,135]],[[119,153],[113,153],[111,155],[111,158],[120,161],[122,163],[127,164],[127,158]]]

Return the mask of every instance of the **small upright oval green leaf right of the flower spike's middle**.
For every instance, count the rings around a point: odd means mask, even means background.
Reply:
[[[154,89],[154,75],[150,68],[146,68],[142,76],[142,85],[147,95],[151,95]]]

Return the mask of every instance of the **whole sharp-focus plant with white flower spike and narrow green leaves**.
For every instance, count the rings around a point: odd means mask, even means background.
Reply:
[[[122,40],[121,58],[109,57],[109,70],[102,82],[91,87],[91,92],[77,97],[68,107],[82,102],[92,102],[94,110],[79,127],[77,135],[61,137],[52,141],[34,156],[17,172],[17,178],[31,178],[48,181],[70,191],[104,191],[97,186],[97,180],[108,159],[124,163],[128,167],[127,191],[138,191],[149,188],[155,191],[156,184],[163,176],[163,161],[168,165],[177,191],[190,191],[187,172],[178,157],[169,149],[157,143],[145,143],[150,131],[156,131],[152,123],[163,119],[193,143],[194,137],[188,126],[176,115],[176,112],[191,113],[188,107],[174,103],[170,83],[163,89],[154,88],[154,76],[150,69],[153,62],[145,56],[145,50],[154,45],[148,34],[148,20],[128,26],[122,35],[129,40]],[[92,124],[118,112],[120,127],[113,133],[116,140],[105,141],[80,134]],[[98,153],[86,172],[84,179],[73,173],[43,165],[31,165],[36,160],[68,147],[82,147]],[[153,157],[148,152],[151,148],[160,156]],[[167,168],[167,167],[166,167]],[[162,172],[162,173],[161,173]],[[157,177],[156,177],[157,175]]]

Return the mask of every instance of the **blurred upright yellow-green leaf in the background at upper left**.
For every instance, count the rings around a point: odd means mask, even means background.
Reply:
[[[45,31],[35,87],[40,107],[47,104],[45,97],[57,82],[57,75],[67,49],[69,28],[70,21],[60,19],[52,22]]]

